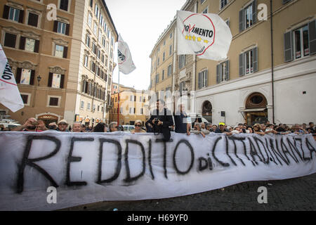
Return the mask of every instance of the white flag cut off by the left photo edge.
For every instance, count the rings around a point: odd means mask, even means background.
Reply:
[[[4,49],[0,44],[0,103],[9,108],[13,113],[24,107],[20,91],[16,85],[13,72]]]

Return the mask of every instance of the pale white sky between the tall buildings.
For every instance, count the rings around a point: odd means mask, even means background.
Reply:
[[[150,53],[186,0],[106,0],[117,32],[129,45],[136,70],[129,75],[113,72],[113,82],[147,90],[150,85]],[[117,43],[114,49],[117,63]]]

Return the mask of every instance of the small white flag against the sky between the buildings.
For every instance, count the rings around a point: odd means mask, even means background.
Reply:
[[[119,43],[117,46],[117,61],[119,63],[119,71],[123,72],[124,75],[128,75],[136,69],[133,59],[131,58],[129,46],[123,41],[121,34],[119,34]]]

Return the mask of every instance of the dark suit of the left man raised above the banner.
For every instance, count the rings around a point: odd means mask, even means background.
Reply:
[[[158,120],[162,121],[163,124],[159,126],[155,125],[152,122],[154,118],[157,118]],[[152,115],[150,119],[148,120],[148,122],[150,122],[152,124],[152,127],[154,127],[154,132],[162,133],[164,135],[164,140],[169,141],[170,136],[171,136],[169,126],[173,125],[173,120],[172,120],[172,115],[171,115],[170,110],[167,110],[166,108],[164,108],[164,115],[159,115],[158,110],[153,110]]]

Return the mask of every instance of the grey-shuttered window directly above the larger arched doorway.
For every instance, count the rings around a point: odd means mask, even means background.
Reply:
[[[258,71],[258,48],[239,55],[239,76]]]

